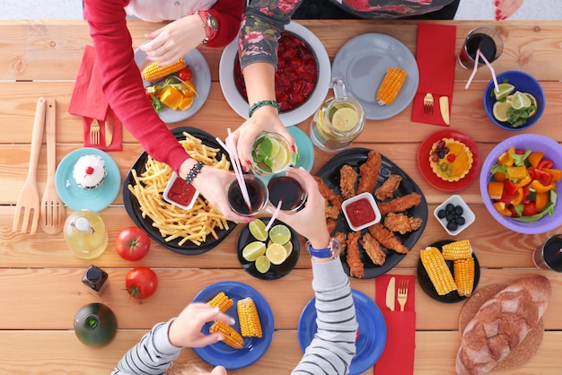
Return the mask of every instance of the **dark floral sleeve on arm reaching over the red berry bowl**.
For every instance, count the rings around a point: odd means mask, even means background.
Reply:
[[[238,39],[240,64],[269,63],[277,68],[277,39],[302,0],[253,0],[246,8]]]

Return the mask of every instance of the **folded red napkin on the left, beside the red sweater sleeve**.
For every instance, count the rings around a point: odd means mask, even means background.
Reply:
[[[68,113],[83,117],[83,145],[95,147],[103,151],[119,151],[122,149],[122,126],[119,118],[110,109],[108,100],[101,90],[100,68],[96,61],[92,46],[83,50],[82,62],[76,77],[75,90],[68,105]],[[105,145],[105,120],[113,119],[113,139],[109,146]],[[93,119],[100,124],[100,144],[90,143],[90,126]]]

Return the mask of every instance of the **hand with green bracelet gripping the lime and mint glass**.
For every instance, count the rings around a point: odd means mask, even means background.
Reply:
[[[238,152],[238,159],[241,161],[241,166],[244,171],[249,171],[251,159],[250,151],[251,144],[254,142],[261,132],[272,132],[283,135],[293,151],[294,138],[291,133],[287,131],[274,107],[264,106],[254,111],[251,118],[248,118],[238,129],[234,130],[232,135],[236,150]]]

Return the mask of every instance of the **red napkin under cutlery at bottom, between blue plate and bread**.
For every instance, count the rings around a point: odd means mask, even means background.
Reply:
[[[386,307],[386,287],[396,279],[396,291],[400,279],[408,280],[408,301],[404,311],[396,301],[396,310]],[[414,352],[416,349],[416,277],[406,275],[381,275],[375,279],[375,300],[386,321],[386,345],[381,358],[374,365],[375,375],[414,373]]]

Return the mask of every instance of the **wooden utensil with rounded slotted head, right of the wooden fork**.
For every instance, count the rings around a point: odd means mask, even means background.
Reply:
[[[57,100],[47,99],[46,134],[47,134],[47,184],[43,191],[40,208],[41,229],[48,234],[57,234],[65,223],[65,205],[60,200],[55,187],[57,171],[56,134],[57,134]]]

